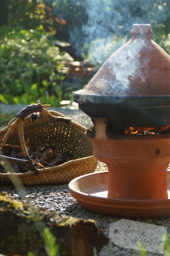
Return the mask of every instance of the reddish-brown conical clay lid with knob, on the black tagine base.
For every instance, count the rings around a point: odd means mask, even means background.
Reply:
[[[151,39],[151,25],[134,24],[130,34],[132,39],[106,60],[83,94],[170,95],[170,56]]]

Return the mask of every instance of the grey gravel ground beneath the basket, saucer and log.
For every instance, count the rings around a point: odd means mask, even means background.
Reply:
[[[17,111],[21,110],[25,105],[17,106]],[[1,106],[2,111],[10,111],[12,107]],[[78,122],[86,127],[92,125],[91,119],[86,116],[81,110],[77,108],[50,108],[50,110],[55,110],[62,113],[65,116],[72,118],[73,121]],[[17,113],[16,111],[16,113]],[[98,163],[98,167],[95,172],[107,171],[107,166],[101,162]],[[63,215],[82,218],[82,219],[92,219],[97,222],[98,227],[104,232],[108,237],[110,223],[120,220],[123,218],[110,217],[106,215],[97,214],[95,212],[88,211],[77,201],[70,196],[68,183],[62,184],[50,184],[50,185],[33,185],[26,186],[25,190],[20,194],[13,185],[0,185],[0,192],[5,191],[11,198],[15,200],[24,200],[29,202],[35,207],[46,209],[47,211],[60,212]],[[160,226],[165,226],[168,228],[169,233],[170,228],[170,218],[157,218],[157,219],[129,219],[139,222],[145,222],[150,224],[156,224]],[[97,255],[96,252],[94,252]],[[104,246],[100,251],[99,256],[111,256],[111,255],[141,255],[140,251],[126,249],[116,246],[110,239],[109,244]],[[162,255],[156,253],[147,252],[145,255]]]

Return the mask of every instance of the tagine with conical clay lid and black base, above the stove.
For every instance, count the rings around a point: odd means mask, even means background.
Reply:
[[[111,127],[166,126],[170,57],[151,39],[151,25],[134,24],[130,33],[74,101],[90,117],[108,117]]]

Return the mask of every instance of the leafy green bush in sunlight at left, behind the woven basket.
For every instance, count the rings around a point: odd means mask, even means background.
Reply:
[[[1,44],[3,73],[0,100],[4,103],[32,104],[41,98],[43,104],[50,102],[59,106],[65,79],[61,61],[72,61],[73,58],[54,46],[48,35],[41,35],[33,29],[30,31],[15,31]]]

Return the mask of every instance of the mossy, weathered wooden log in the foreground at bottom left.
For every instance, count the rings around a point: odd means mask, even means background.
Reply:
[[[94,220],[83,220],[48,212],[0,194],[0,253],[47,256],[44,249],[43,230],[49,228],[59,244],[60,255],[90,256],[93,247],[97,252],[108,244],[108,238]]]

